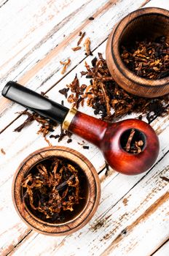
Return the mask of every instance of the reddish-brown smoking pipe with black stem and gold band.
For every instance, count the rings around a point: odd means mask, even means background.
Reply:
[[[127,175],[143,173],[157,159],[159,140],[154,129],[144,121],[127,119],[117,123],[108,123],[74,108],[69,110],[13,81],[9,81],[4,86],[2,95],[41,116],[57,121],[62,124],[63,129],[98,146],[106,162],[119,173]],[[131,129],[135,129],[137,140],[144,142],[144,148],[138,154],[130,154],[123,149]]]

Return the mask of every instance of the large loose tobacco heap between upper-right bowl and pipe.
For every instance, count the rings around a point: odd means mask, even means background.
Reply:
[[[100,114],[105,121],[117,121],[127,114],[139,113],[141,116],[146,116],[149,123],[157,116],[168,115],[168,95],[150,99],[130,94],[119,87],[111,77],[101,53],[98,53],[98,58],[93,60],[93,67],[85,62],[87,70],[80,72],[81,75],[90,78],[90,85],[80,96],[84,97],[82,104],[85,101],[93,108],[95,115]],[[71,92],[71,103],[75,105],[77,98],[75,93]]]

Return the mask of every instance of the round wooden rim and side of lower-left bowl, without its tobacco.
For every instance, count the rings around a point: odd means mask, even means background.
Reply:
[[[28,207],[25,206],[23,208],[23,188],[21,186],[23,179],[34,165],[51,157],[68,159],[69,161],[74,162],[82,170],[87,181],[87,200],[84,208],[82,208],[73,219],[59,224],[44,222],[42,219],[39,219],[32,214]],[[100,197],[100,180],[93,165],[79,152],[62,146],[42,148],[26,157],[17,168],[12,185],[12,199],[17,213],[23,219],[25,224],[39,233],[50,236],[65,236],[74,233],[76,230],[79,230],[86,225],[95,214]]]

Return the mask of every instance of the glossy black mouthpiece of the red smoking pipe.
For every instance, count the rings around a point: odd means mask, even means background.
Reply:
[[[2,95],[41,116],[57,121],[59,124],[63,123],[68,113],[68,108],[12,81],[4,86]]]

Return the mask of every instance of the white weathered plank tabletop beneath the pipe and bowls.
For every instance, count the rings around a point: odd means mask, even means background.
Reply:
[[[58,90],[80,78],[84,61],[92,56],[73,52],[79,31],[91,39],[91,50],[105,54],[106,39],[122,17],[140,7],[163,7],[168,0],[0,0],[0,86],[17,80],[34,91],[61,102]],[[90,17],[95,18],[89,20]],[[61,75],[60,60],[71,59]],[[65,101],[65,105],[70,107]],[[152,122],[160,138],[160,154],[151,170],[138,176],[109,171],[95,146],[90,151],[66,139],[53,145],[70,146],[90,159],[101,178],[101,203],[93,219],[71,236],[50,237],[28,228],[12,204],[12,178],[17,166],[31,152],[47,146],[34,121],[22,132],[13,130],[25,120],[16,112],[20,105],[0,97],[0,255],[169,255],[169,121],[168,116]],[[80,109],[93,115],[87,107]],[[60,127],[57,128],[60,130]],[[56,133],[56,132],[55,132]],[[103,170],[101,172],[101,170]]]

